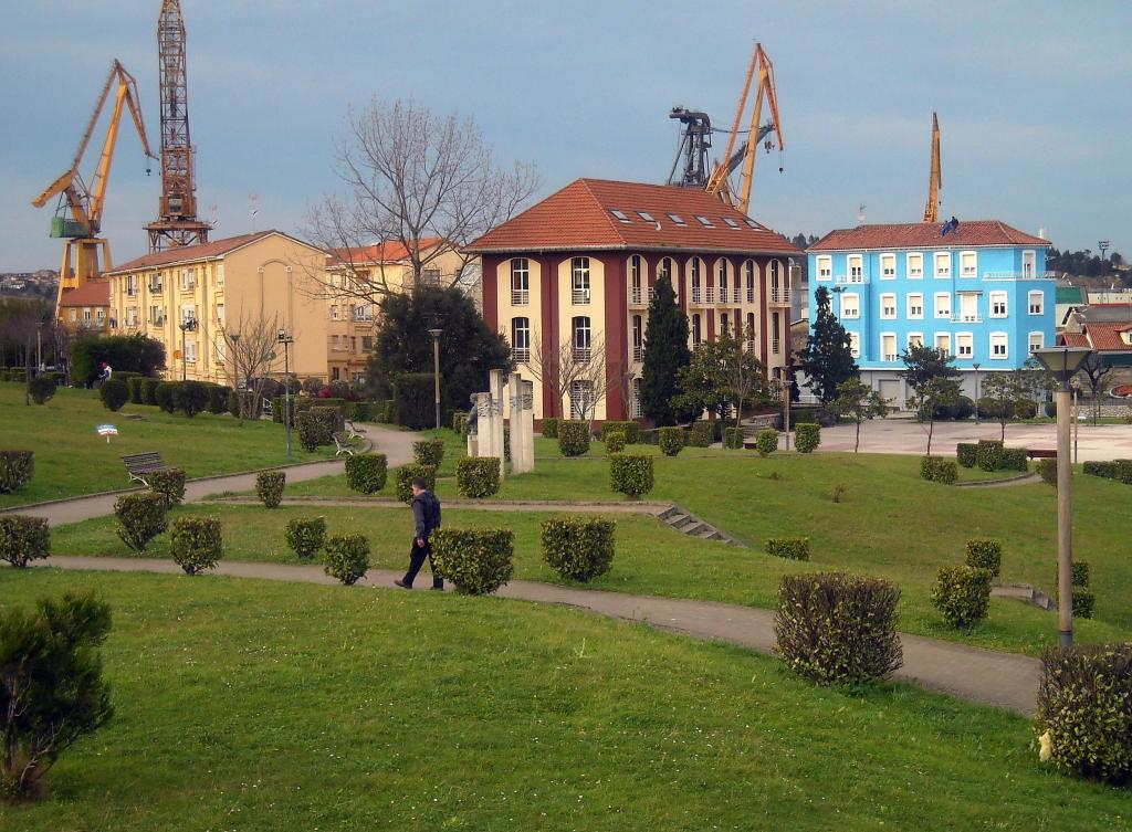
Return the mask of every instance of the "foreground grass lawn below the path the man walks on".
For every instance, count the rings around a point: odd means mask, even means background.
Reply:
[[[1029,722],[908,685],[494,598],[0,571],[89,589],[114,719],[3,832],[1130,829]]]

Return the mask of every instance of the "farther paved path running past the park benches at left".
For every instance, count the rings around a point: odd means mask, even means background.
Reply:
[[[389,465],[404,465],[413,461],[413,441],[419,439],[419,435],[406,430],[392,430],[380,424],[366,424],[366,435],[374,443],[374,451],[383,453],[388,457]],[[345,463],[342,460],[327,460],[325,462],[310,462],[300,465],[285,468],[288,482],[302,482],[314,480],[319,477],[340,474]],[[185,501],[197,503],[205,497],[222,491],[247,491],[256,487],[256,472],[242,474],[229,474],[225,477],[208,477],[201,480],[190,480],[185,486]],[[37,506],[25,506],[9,508],[0,514],[26,514],[33,517],[44,517],[49,525],[62,525],[66,523],[78,523],[92,517],[103,517],[113,514],[115,500],[129,491],[143,491],[145,489],[123,489],[121,491],[110,491],[95,494],[89,497],[76,497],[74,499],[44,503]]]

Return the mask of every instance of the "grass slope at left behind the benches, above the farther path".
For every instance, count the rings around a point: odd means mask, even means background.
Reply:
[[[140,419],[130,419],[139,415]],[[95,427],[117,426],[108,444]],[[148,405],[103,408],[95,391],[60,388],[44,405],[24,404],[24,388],[0,383],[0,448],[35,452],[35,475],[16,494],[0,494],[0,508],[127,488],[121,456],[161,452],[190,478],[249,471],[286,462],[283,426],[246,422],[231,415],[170,415]],[[294,440],[293,462],[333,455],[333,448],[305,452]]]

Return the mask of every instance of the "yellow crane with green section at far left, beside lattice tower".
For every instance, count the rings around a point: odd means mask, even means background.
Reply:
[[[114,108],[110,115],[106,136],[102,141],[102,155],[98,157],[94,177],[91,179],[91,183],[87,185],[79,174],[78,169],[115,82],[118,86],[114,95]],[[106,182],[110,180],[110,166],[114,160],[114,146],[118,143],[118,131],[123,109],[129,109],[130,111],[134,126],[137,128],[138,137],[142,139],[142,149],[145,151],[147,156],[156,158],[153,151],[149,149],[149,140],[146,138],[137,82],[115,60],[110,67],[110,75],[102,87],[102,94],[98,96],[98,103],[91,115],[86,132],[83,134],[83,140],[79,141],[75,161],[66,173],[32,200],[32,205],[36,208],[42,208],[49,199],[59,197],[55,216],[51,220],[51,237],[62,238],[66,241],[63,243],[62,268],[59,272],[59,298],[62,298],[66,292],[72,289],[78,289],[93,280],[97,280],[102,275],[102,268],[98,265],[100,249],[102,250],[103,267],[111,267],[110,243],[100,238],[98,232],[102,229]],[[146,172],[149,172],[148,169]]]

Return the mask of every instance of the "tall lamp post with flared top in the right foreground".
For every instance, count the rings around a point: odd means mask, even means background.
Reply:
[[[1073,644],[1073,465],[1069,457],[1070,379],[1092,351],[1087,346],[1035,350],[1061,386],[1057,388],[1057,633],[1063,647]]]

